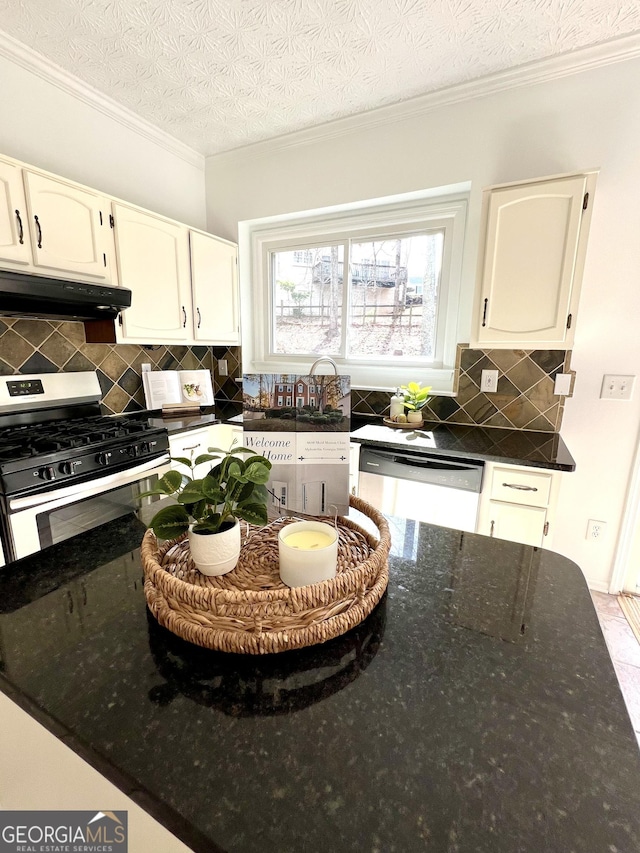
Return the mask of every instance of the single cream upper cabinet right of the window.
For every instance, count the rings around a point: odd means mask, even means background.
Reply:
[[[568,349],[596,173],[484,191],[472,346]]]

